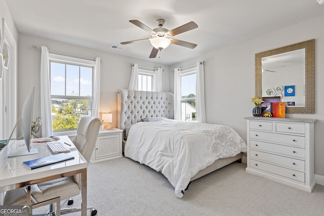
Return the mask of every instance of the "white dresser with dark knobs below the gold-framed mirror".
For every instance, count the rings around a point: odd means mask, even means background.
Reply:
[[[311,192],[316,119],[245,117],[247,172]]]

